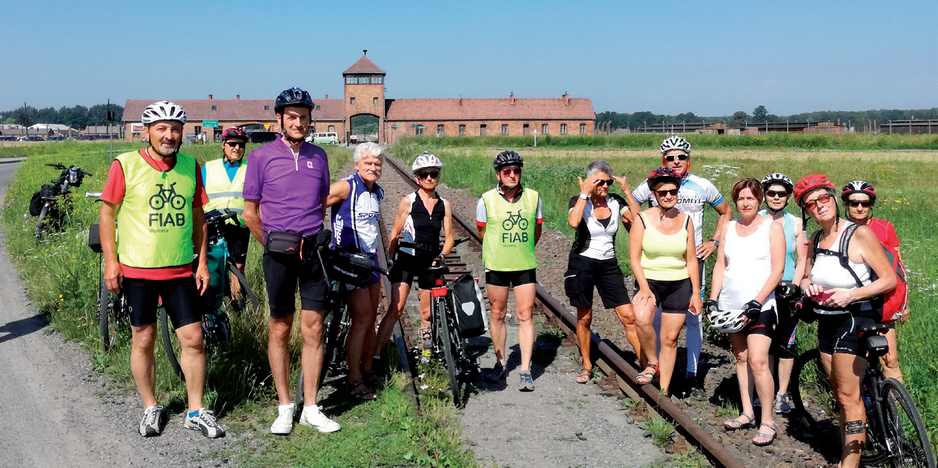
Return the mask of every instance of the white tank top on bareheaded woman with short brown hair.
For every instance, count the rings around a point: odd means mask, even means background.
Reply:
[[[724,240],[726,272],[723,274],[719,300],[722,310],[742,310],[747,302],[755,299],[762,291],[772,274],[772,249],[769,245],[772,221],[765,219],[755,232],[745,237],[736,232],[737,224],[736,221],[730,222]],[[762,310],[773,307],[774,292],[762,304]]]

